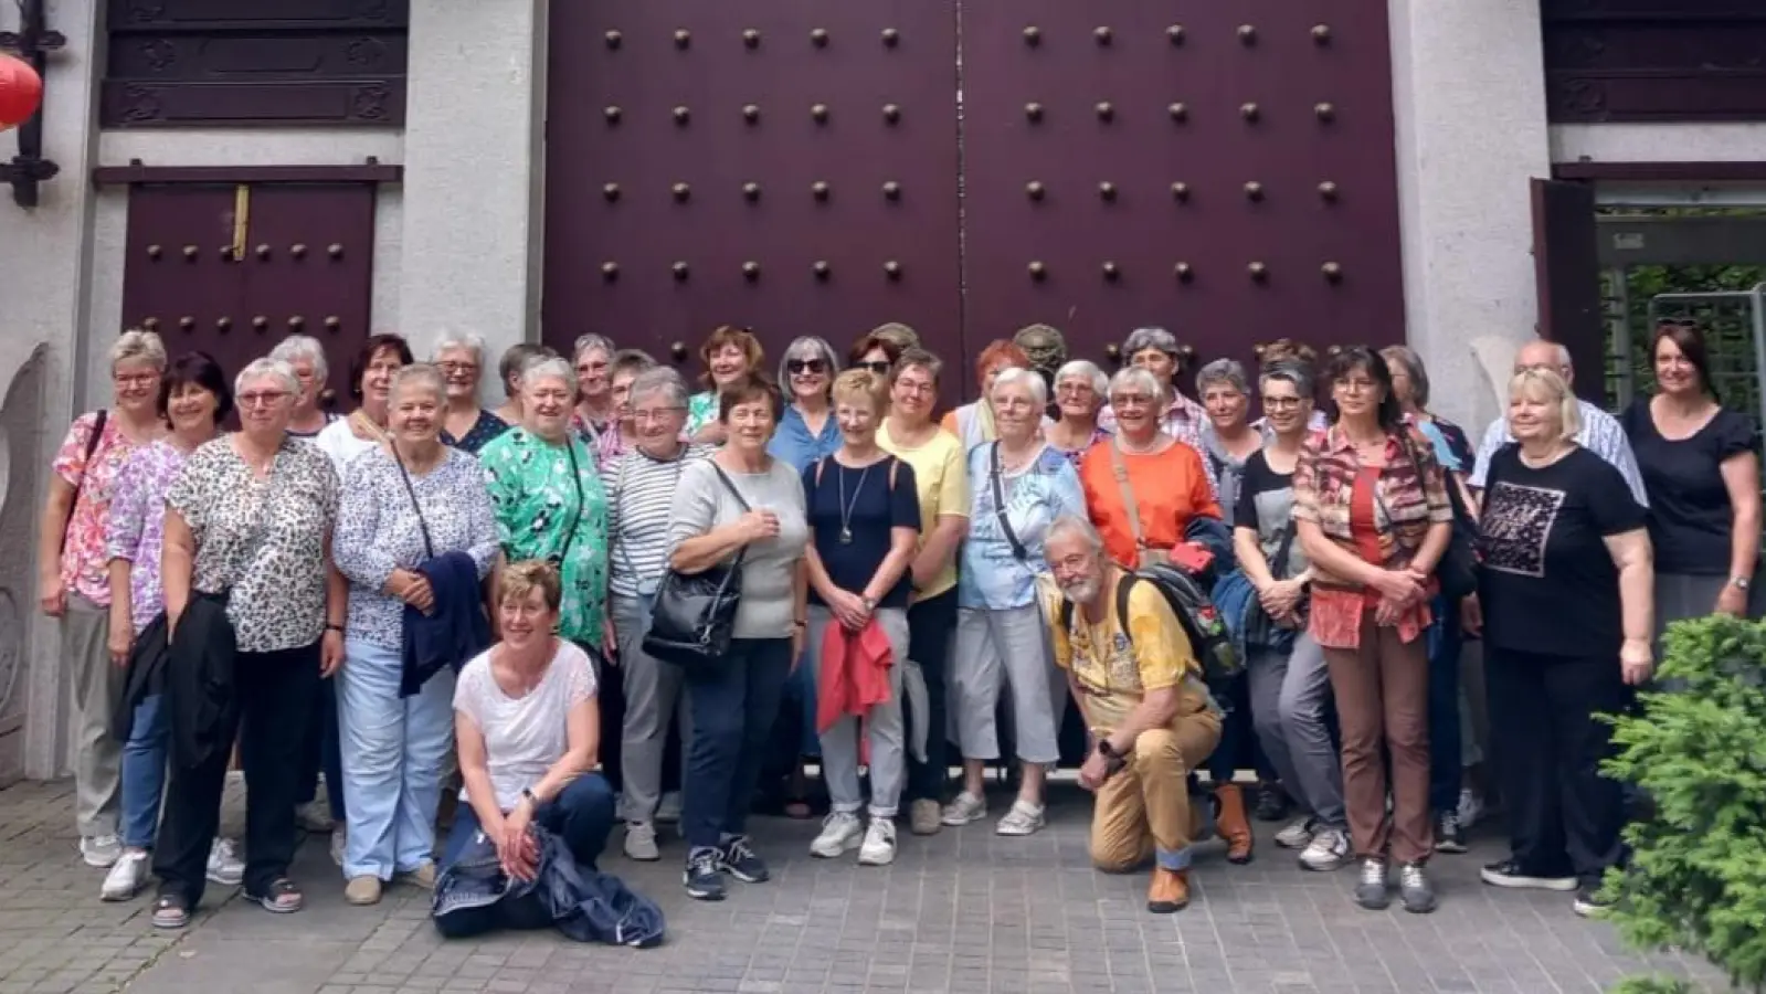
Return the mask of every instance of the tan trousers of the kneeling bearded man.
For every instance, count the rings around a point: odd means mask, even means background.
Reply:
[[[1187,870],[1197,825],[1189,775],[1219,742],[1220,719],[1210,712],[1143,731],[1134,740],[1134,759],[1097,791],[1091,865],[1120,874],[1157,856],[1167,870]]]

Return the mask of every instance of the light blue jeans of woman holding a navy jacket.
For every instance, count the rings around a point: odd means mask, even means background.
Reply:
[[[399,650],[344,641],[337,673],[343,782],[350,798],[344,877],[392,879],[434,858],[442,768],[454,749],[454,671],[399,697]]]

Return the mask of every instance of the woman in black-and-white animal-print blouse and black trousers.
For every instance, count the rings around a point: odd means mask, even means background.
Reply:
[[[244,893],[286,915],[304,904],[288,879],[302,742],[320,681],[343,664],[348,588],[330,558],[337,473],[323,452],[288,436],[300,381],[286,362],[253,362],[233,390],[240,431],[191,452],[166,493],[166,623],[173,655],[196,602],[205,620],[224,609],[233,629],[233,708],[212,742],[242,729]],[[187,925],[201,900],[231,750],[177,752],[154,853],[154,925],[162,929]]]

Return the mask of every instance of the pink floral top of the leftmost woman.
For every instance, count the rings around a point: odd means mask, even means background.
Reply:
[[[111,496],[117,493],[117,475],[138,448],[122,433],[115,417],[104,420],[104,433],[92,463],[87,464],[87,441],[97,413],[74,418],[55,454],[53,471],[74,487],[74,510],[67,516],[67,544],[62,547],[62,588],[87,600],[109,606],[109,553],[104,547],[109,528]]]

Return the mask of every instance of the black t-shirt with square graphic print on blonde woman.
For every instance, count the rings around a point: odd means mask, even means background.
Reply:
[[[1483,639],[1515,651],[1618,659],[1619,570],[1605,538],[1644,526],[1625,477],[1575,448],[1533,470],[1521,447],[1491,457],[1478,551]]]

